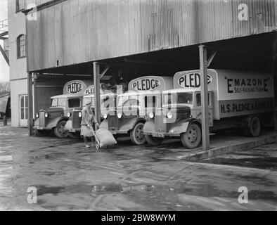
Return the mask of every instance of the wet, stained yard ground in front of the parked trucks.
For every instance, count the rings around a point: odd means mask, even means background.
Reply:
[[[277,210],[277,143],[186,162],[174,160],[187,151],[179,141],[118,142],[98,152],[0,125],[0,210]],[[30,186],[37,204],[27,203]],[[238,203],[240,186],[247,204]]]

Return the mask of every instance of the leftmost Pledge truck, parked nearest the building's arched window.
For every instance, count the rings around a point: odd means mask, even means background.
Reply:
[[[39,110],[36,113],[34,122],[34,134],[44,136],[49,134],[47,131],[53,131],[60,138],[70,136],[74,138],[67,130],[65,124],[70,117],[72,110],[82,108],[82,98],[87,86],[93,82],[90,80],[72,80],[63,86],[63,94],[51,97],[51,106],[47,109]]]

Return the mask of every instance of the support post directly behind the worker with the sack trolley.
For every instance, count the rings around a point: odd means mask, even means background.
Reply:
[[[101,121],[101,105],[100,105],[100,65],[94,62],[94,106],[97,122]]]

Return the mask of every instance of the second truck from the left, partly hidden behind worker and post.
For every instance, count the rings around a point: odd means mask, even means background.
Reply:
[[[71,136],[75,136],[75,138],[79,138],[81,132],[81,122],[82,122],[82,108],[86,105],[85,99],[91,98],[91,108],[94,111],[94,85],[89,86],[84,92],[82,107],[75,108],[72,110],[72,115],[70,115],[69,120],[67,120],[65,124],[65,130],[69,131]],[[101,90],[100,95],[101,101],[101,120],[103,120],[104,114],[107,115],[109,110],[115,108],[116,94],[110,90]]]

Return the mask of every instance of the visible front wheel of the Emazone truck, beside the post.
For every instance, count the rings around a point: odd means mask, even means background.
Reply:
[[[201,142],[202,134],[198,124],[191,124],[186,133],[181,134],[183,146],[187,148],[197,148]]]

